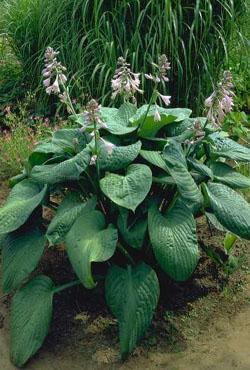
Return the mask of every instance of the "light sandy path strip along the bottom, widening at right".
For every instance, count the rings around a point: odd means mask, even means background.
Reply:
[[[250,294],[249,294],[250,298]],[[3,312],[1,307],[0,312]],[[0,369],[13,370],[8,357],[7,321],[0,330]],[[207,335],[194,340],[184,352],[149,353],[148,357],[131,358],[125,364],[98,364],[86,359],[83,351],[72,348],[62,353],[40,354],[27,366],[28,370],[249,370],[250,369],[250,305],[236,314],[233,320],[213,322]]]

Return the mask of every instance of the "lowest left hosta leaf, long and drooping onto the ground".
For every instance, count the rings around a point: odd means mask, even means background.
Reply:
[[[10,313],[10,357],[23,366],[43,344],[52,318],[54,284],[40,275],[13,297]]]

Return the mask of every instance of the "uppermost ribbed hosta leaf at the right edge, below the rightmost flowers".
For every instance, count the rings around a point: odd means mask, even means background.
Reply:
[[[236,141],[223,137],[220,133],[210,135],[209,140],[211,142],[212,157],[223,157],[236,161],[250,162],[250,149]]]

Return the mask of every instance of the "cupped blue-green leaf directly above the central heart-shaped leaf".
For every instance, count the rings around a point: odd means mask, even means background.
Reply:
[[[140,141],[128,146],[115,146],[111,154],[108,154],[105,146],[101,146],[98,156],[100,169],[117,171],[126,168],[138,156],[140,149]]]

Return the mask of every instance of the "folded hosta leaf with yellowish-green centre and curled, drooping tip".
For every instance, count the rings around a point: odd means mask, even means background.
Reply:
[[[115,252],[118,240],[113,225],[106,228],[105,218],[99,211],[83,213],[66,236],[66,247],[73,269],[85,288],[95,287],[91,264],[104,262]]]

